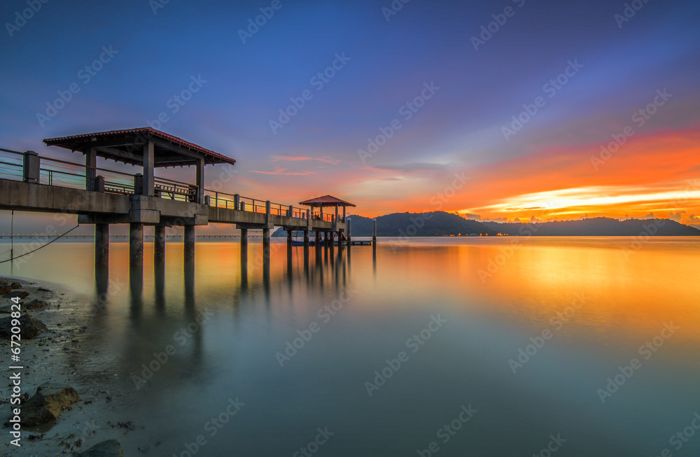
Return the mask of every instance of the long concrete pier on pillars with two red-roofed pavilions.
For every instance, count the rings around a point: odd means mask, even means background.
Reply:
[[[144,226],[154,227],[156,264],[165,262],[165,227],[174,226],[184,229],[186,262],[195,258],[195,227],[209,223],[232,224],[240,230],[241,262],[247,261],[248,230],[262,230],[263,260],[269,260],[270,230],[274,227],[287,231],[289,247],[293,231],[303,232],[304,248],[311,245],[311,233],[316,248],[368,243],[351,240],[346,208],[355,205],[337,197],[325,195],[300,202],[308,206],[300,208],[207,189],[206,165],[232,166],[236,161],[151,127],[64,136],[45,139],[44,143],[81,153],[85,163],[40,157],[34,151],[0,149],[7,156],[0,155],[3,174],[18,178],[0,179],[0,209],[76,214],[79,224],[94,225],[95,265],[99,267],[109,262],[111,224],[130,225],[130,264],[135,266],[144,262]],[[97,157],[141,167],[142,172],[127,174],[97,167]],[[190,166],[195,167],[194,183],[154,174],[159,167]],[[234,175],[224,171],[213,187],[221,188]]]

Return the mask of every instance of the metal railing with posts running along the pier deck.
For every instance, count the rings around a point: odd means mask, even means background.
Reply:
[[[27,157],[29,155],[29,157]],[[28,178],[25,167],[36,167],[38,178]],[[36,170],[35,170],[36,171]],[[0,148],[0,178],[14,181],[30,181],[44,185],[64,188],[89,189],[121,195],[139,193],[139,177],[141,174],[129,174],[123,171],[104,169],[102,167],[87,167],[85,164],[58,160],[52,157],[39,156],[27,151],[20,153],[15,150]],[[197,195],[197,186],[175,181],[169,178],[154,178],[155,197],[193,202]],[[139,190],[139,192],[137,192]],[[239,209],[253,213],[270,213],[277,216],[295,218],[311,218],[333,222],[333,213],[323,213],[293,205],[269,202],[267,200],[244,197],[215,190],[204,189],[204,202],[217,208]],[[339,222],[342,215],[338,216]]]

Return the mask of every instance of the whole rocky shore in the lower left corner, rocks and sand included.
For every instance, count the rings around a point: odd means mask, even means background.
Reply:
[[[19,314],[13,308],[17,302]],[[118,407],[123,388],[109,363],[100,363],[83,309],[56,286],[0,277],[0,350],[7,380],[0,383],[0,455],[125,455],[120,441],[130,440],[139,426]],[[18,323],[20,346],[10,342]],[[20,414],[14,414],[18,407]],[[17,423],[18,441],[11,433]],[[148,453],[148,446],[139,451]]]

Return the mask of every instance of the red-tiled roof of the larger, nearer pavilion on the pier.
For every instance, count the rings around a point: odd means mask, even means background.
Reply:
[[[43,142],[46,144],[46,146],[59,146],[62,148],[76,151],[81,150],[85,146],[90,146],[90,143],[94,141],[104,141],[107,139],[114,139],[117,137],[124,136],[133,137],[134,145],[132,146],[136,146],[137,144],[143,143],[144,136],[155,136],[156,138],[169,141],[170,143],[173,143],[176,146],[180,146],[181,148],[187,148],[197,153],[201,153],[202,155],[204,155],[204,162],[207,164],[236,163],[235,159],[232,159],[219,153],[215,153],[213,150],[202,148],[202,146],[197,146],[196,144],[180,139],[177,136],[173,136],[165,132],[160,132],[160,130],[153,129],[152,127],[140,127],[137,129],[110,130],[109,132],[94,132],[72,136],[61,136],[59,138],[48,138],[45,139]],[[141,138],[139,138],[139,136],[141,136]],[[141,140],[140,143],[137,142],[137,140],[139,139]],[[99,142],[96,146],[99,147]],[[115,160],[115,157],[109,157],[109,154],[106,153],[98,153],[98,155],[100,157]],[[120,158],[120,161],[123,160]]]

